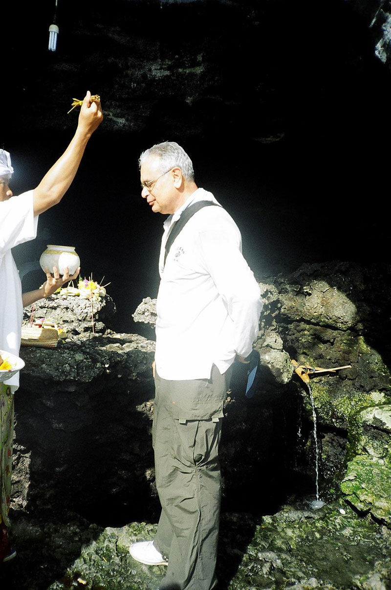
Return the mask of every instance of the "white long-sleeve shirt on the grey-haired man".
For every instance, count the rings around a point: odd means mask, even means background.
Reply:
[[[175,381],[209,379],[213,363],[225,373],[236,353],[248,356],[262,310],[259,286],[242,256],[241,234],[222,207],[196,212],[164,264],[172,224],[197,201],[218,203],[199,188],[163,224],[155,360],[159,376]]]

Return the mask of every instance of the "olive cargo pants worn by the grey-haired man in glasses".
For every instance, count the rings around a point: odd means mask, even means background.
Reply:
[[[218,450],[227,385],[215,365],[211,379],[155,376],[153,448],[162,513],[154,544],[169,558],[159,590],[211,590],[217,583]]]

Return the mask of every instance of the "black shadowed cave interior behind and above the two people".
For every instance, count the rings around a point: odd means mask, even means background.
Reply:
[[[390,73],[354,4],[58,0],[54,54],[55,2],[9,6],[0,146],[14,193],[67,146],[73,97],[100,94],[105,114],[37,240],[15,248],[18,266],[48,243],[74,245],[81,275],[110,282],[117,330],[138,331],[131,314],[157,294],[164,219],[140,198],[137,160],[162,140],[186,149],[198,186],[235,218],[258,278],[327,260],[387,264]],[[43,278],[30,272],[24,290]]]

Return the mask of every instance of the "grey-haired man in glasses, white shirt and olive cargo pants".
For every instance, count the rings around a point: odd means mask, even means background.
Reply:
[[[261,296],[238,227],[210,192],[196,186],[192,162],[178,143],[153,146],[139,164],[142,197],[153,212],[169,217],[153,364],[162,513],[155,540],[134,543],[130,554],[147,565],[167,565],[160,590],[211,590],[217,584],[218,448],[229,369],[252,350]]]

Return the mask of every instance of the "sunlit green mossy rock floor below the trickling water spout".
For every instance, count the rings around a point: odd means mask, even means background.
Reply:
[[[347,506],[286,507],[262,518],[229,588],[355,588],[391,548],[391,533],[381,538],[376,529]]]

